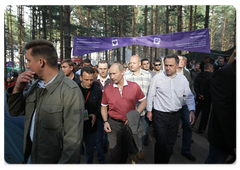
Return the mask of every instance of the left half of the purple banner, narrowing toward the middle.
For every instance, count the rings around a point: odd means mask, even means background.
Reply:
[[[132,37],[74,37],[73,56],[129,46],[132,44]]]

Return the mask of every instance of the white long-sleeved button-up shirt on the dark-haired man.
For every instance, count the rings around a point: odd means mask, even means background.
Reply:
[[[178,72],[167,76],[165,71],[156,74],[151,82],[147,97],[147,111],[154,109],[162,112],[175,112],[186,101],[189,111],[195,111],[194,96],[189,88],[187,78]]]

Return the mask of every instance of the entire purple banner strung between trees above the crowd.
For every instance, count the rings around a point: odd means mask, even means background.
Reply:
[[[210,53],[209,29],[144,37],[74,37],[73,56],[129,45]]]

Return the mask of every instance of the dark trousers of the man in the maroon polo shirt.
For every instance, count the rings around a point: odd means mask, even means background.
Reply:
[[[132,142],[132,131],[123,122],[111,118],[108,120],[112,132],[108,133],[110,164],[126,164]]]

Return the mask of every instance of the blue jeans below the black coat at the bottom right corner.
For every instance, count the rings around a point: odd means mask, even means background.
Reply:
[[[205,165],[224,165],[227,161],[228,154],[218,150],[209,144],[209,153],[205,161]]]

